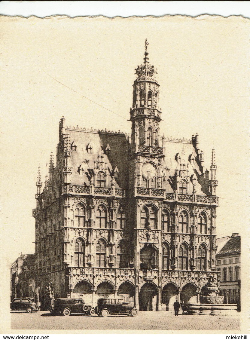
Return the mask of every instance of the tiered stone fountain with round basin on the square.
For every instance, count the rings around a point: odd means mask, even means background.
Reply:
[[[218,295],[219,289],[213,275],[210,276],[200,302],[189,303],[186,314],[199,315],[235,315],[236,304],[224,304],[224,296]]]

